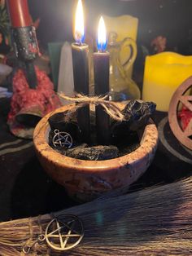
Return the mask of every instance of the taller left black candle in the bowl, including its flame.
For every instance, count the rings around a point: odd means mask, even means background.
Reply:
[[[76,43],[72,43],[72,65],[74,76],[74,90],[83,95],[89,95],[89,46],[84,40],[84,18],[82,2],[79,0],[76,8],[76,24],[74,37]],[[89,105],[77,110],[77,122],[81,129],[81,138],[89,143],[90,121]]]

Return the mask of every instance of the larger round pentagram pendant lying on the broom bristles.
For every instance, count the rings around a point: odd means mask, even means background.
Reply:
[[[54,218],[46,227],[46,242],[55,250],[68,250],[76,247],[84,236],[80,218],[72,214],[63,214]]]

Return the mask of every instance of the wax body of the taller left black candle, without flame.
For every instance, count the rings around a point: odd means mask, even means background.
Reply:
[[[74,90],[83,95],[89,95],[89,46],[72,44],[72,65],[74,75]],[[77,122],[81,129],[81,140],[90,142],[89,106],[77,110]]]

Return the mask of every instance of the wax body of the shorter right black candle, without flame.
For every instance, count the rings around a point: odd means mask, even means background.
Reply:
[[[94,53],[95,95],[109,93],[109,53]],[[96,129],[99,144],[110,144],[110,117],[102,106],[96,106]]]

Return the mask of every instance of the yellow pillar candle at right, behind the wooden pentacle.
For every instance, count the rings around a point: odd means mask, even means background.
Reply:
[[[153,101],[157,110],[168,111],[178,86],[192,75],[192,56],[163,52],[146,57],[142,99]]]

